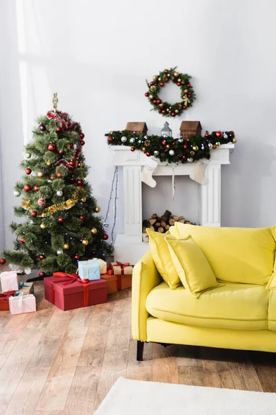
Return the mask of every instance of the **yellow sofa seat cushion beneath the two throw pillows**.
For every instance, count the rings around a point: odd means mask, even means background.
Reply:
[[[195,298],[184,286],[172,291],[162,282],[148,294],[146,309],[153,317],[191,326],[265,330],[268,296],[265,286],[226,283]]]

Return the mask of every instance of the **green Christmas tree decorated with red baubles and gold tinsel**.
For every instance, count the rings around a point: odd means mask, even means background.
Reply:
[[[104,259],[112,252],[86,181],[81,126],[57,110],[56,94],[53,103],[54,110],[39,118],[26,145],[25,174],[14,188],[14,196],[23,196],[14,214],[25,220],[11,223],[17,235],[14,250],[3,251],[11,268],[27,274],[37,268],[40,277],[76,272],[78,260]]]

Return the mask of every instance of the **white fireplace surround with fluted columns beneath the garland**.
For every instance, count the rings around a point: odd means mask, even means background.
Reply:
[[[221,165],[230,164],[229,154],[235,145],[220,145],[211,150],[204,176],[206,183],[200,185],[200,225],[220,226],[221,220]],[[115,261],[135,264],[148,250],[148,243],[142,242],[142,169],[148,157],[142,151],[130,151],[129,147],[112,146],[114,165],[123,167],[124,176],[124,234],[117,234],[115,240]],[[157,162],[159,160],[156,160]],[[153,176],[190,176],[193,179],[196,163],[168,165],[159,162]],[[172,169],[172,167],[175,167]]]

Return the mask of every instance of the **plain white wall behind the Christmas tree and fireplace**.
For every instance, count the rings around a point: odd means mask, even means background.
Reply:
[[[146,121],[157,133],[164,119],[150,112],[145,79],[176,65],[193,75],[198,99],[185,118],[169,120],[175,135],[188,119],[210,131],[233,129],[239,139],[223,169],[222,224],[275,224],[273,0],[3,0],[0,8],[6,229],[18,202],[12,187],[21,146],[53,92],[59,108],[81,121],[89,179],[104,210],[113,168],[103,135],[128,121]]]

